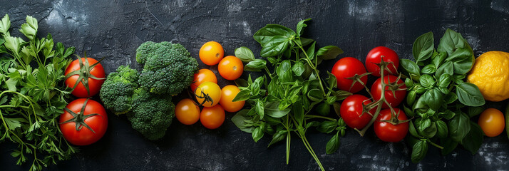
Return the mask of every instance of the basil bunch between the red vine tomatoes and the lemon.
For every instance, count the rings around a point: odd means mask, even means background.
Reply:
[[[452,152],[458,144],[473,154],[483,142],[483,130],[470,120],[480,114],[485,100],[479,88],[463,79],[475,58],[471,46],[460,33],[447,29],[434,48],[433,33],[419,36],[413,42],[416,62],[401,59],[406,71],[408,95],[405,113],[410,122],[408,137],[412,161],[426,156],[428,145]],[[436,143],[439,141],[439,143]]]

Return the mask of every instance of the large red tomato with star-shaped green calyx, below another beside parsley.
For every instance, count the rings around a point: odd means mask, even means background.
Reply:
[[[84,103],[86,105],[83,107]],[[90,145],[97,142],[106,133],[108,115],[101,103],[87,98],[78,98],[69,103],[66,108],[73,113],[64,110],[58,122],[63,138],[66,138],[71,144]],[[77,128],[76,124],[78,124]]]

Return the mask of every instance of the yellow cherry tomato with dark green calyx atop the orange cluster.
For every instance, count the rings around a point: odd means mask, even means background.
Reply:
[[[200,105],[212,107],[221,100],[221,88],[217,83],[205,82],[196,88],[195,96]]]

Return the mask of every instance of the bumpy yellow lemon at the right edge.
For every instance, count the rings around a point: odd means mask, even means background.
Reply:
[[[501,101],[509,98],[509,53],[483,53],[475,59],[467,81],[478,86],[486,100]]]

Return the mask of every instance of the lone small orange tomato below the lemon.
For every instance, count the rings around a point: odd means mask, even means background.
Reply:
[[[478,124],[486,136],[496,137],[504,130],[504,115],[498,109],[488,108],[480,113]]]

